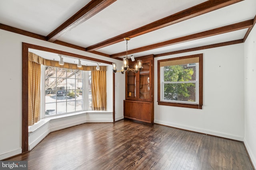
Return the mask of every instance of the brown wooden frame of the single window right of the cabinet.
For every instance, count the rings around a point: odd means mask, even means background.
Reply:
[[[196,96],[198,96],[198,103],[192,103],[192,102],[167,102],[166,100],[162,100],[162,93],[163,93],[163,83],[162,83],[162,75],[161,75],[161,67],[160,63],[161,62],[166,62],[166,61],[175,61],[175,60],[181,60],[181,59],[190,59],[190,58],[199,58],[199,63],[198,63],[198,94],[196,92]],[[158,60],[158,105],[164,105],[164,106],[176,106],[176,107],[188,107],[188,108],[195,108],[195,109],[202,109],[203,106],[203,54],[196,54],[196,55],[188,55],[188,56],[183,56],[183,57],[175,57],[175,58],[170,58],[170,59],[163,59],[163,60]]]

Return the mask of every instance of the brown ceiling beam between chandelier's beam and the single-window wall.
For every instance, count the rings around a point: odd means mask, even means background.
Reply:
[[[160,42],[160,43],[156,43],[156,44],[152,44],[152,45],[147,45],[147,46],[139,47],[139,48],[136,48],[136,49],[131,49],[131,50],[128,50],[128,54],[140,53],[142,51],[148,51],[148,50],[152,50],[152,49],[156,49],[156,48],[166,47],[168,45],[184,43],[184,42],[187,42],[187,41],[206,38],[206,37],[210,37],[210,36],[214,36],[214,35],[219,35],[219,34],[222,34],[222,33],[237,31],[237,30],[240,30],[240,29],[245,29],[245,28],[252,27],[253,23],[254,23],[254,20],[242,21],[242,22],[234,23],[234,24],[227,25],[227,26],[224,26],[224,27],[210,29],[208,31],[203,31],[203,32],[200,32],[200,33],[192,34],[192,35],[186,35],[184,37],[179,37],[179,38],[176,38],[176,39],[170,39],[168,41],[164,41],[164,42]],[[110,55],[110,57],[111,58],[116,58],[116,57],[121,57],[121,56],[124,56],[124,55],[126,55],[126,51]]]

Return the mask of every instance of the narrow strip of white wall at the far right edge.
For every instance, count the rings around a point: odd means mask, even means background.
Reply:
[[[256,26],[244,43],[244,144],[256,167]]]

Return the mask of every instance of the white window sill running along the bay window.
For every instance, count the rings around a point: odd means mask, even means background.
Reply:
[[[44,119],[40,119],[40,121],[38,121],[34,125],[29,126],[28,127],[28,133],[33,133],[33,132],[37,131],[42,126],[49,123],[51,120],[58,120],[58,119],[62,119],[62,118],[70,118],[72,116],[82,115],[82,114],[88,115],[88,114],[102,114],[102,113],[112,114],[112,111],[79,111],[79,112],[68,113],[68,114],[64,114],[64,115],[45,117]]]

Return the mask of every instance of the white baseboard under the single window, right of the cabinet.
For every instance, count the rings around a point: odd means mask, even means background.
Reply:
[[[207,130],[207,129],[200,129],[200,128],[196,128],[196,127],[184,126],[184,125],[159,121],[159,120],[156,120],[156,119],[154,120],[154,123],[158,123],[158,124],[166,125],[166,126],[170,126],[170,127],[176,127],[176,128],[180,128],[180,129],[184,129],[184,130],[204,133],[204,134],[208,134],[208,135],[214,135],[214,136],[218,136],[218,137],[234,139],[234,140],[237,140],[237,141],[244,141],[244,137],[236,136],[236,135],[232,135],[232,134],[228,134],[228,133],[222,133],[222,132],[218,132],[218,131],[211,131],[211,130]]]

